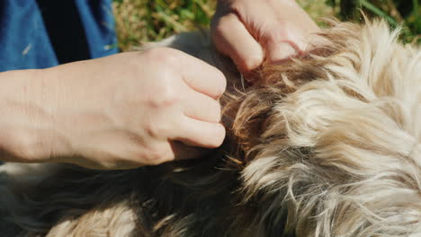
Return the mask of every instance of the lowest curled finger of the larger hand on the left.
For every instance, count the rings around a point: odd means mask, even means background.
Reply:
[[[185,116],[177,127],[175,135],[170,138],[186,145],[216,148],[224,141],[225,127],[219,123],[204,122]]]

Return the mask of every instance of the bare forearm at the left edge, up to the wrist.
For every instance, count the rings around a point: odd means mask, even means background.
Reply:
[[[60,155],[65,144],[52,111],[53,88],[43,70],[0,73],[0,160],[44,162]]]

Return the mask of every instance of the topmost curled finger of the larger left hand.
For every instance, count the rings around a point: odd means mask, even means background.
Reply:
[[[215,66],[210,66],[196,57],[185,54],[181,62],[184,82],[197,92],[214,99],[225,92],[227,79]]]

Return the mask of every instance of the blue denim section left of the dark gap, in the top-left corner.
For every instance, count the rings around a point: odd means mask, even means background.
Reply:
[[[58,65],[34,0],[0,0],[0,71]]]

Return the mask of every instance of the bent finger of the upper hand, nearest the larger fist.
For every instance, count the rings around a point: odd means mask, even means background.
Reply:
[[[219,18],[213,27],[212,39],[223,54],[228,55],[241,72],[260,66],[264,52],[235,13]]]

